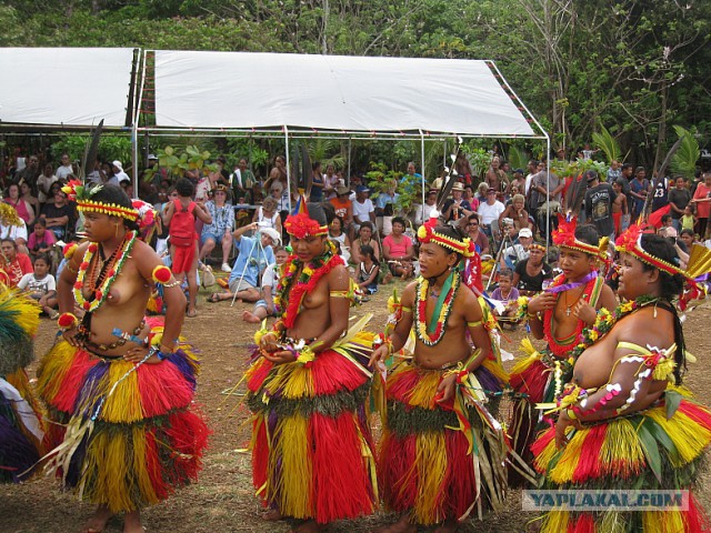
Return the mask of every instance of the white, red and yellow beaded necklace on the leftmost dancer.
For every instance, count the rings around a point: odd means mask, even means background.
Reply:
[[[84,299],[84,295],[81,290],[84,285],[84,278],[91,264],[91,259],[93,258],[93,254],[99,249],[99,244],[96,242],[91,242],[89,244],[89,247],[87,248],[87,251],[84,252],[84,257],[81,260],[81,264],[79,265],[77,282],[74,283],[73,291],[72,291],[74,294],[74,301],[77,302],[77,305],[79,305],[84,311],[91,313],[103,304],[103,302],[109,295],[109,290],[111,289],[111,285],[118,278],[119,273],[121,272],[121,269],[123,268],[123,263],[126,263],[126,260],[129,258],[129,254],[131,253],[131,249],[133,248],[133,243],[136,242],[136,235],[137,235],[136,231],[129,231],[126,233],[126,237],[123,238],[123,241],[121,242],[121,244],[119,244],[119,247],[113,251],[109,260],[107,260],[108,269],[107,269],[107,264],[102,265],[98,276],[94,275],[96,266],[97,266],[97,264],[94,264],[94,269],[91,275],[92,279],[88,283],[88,286],[93,294],[90,296],[89,300],[87,300]],[[100,284],[98,289],[97,289],[97,284]]]

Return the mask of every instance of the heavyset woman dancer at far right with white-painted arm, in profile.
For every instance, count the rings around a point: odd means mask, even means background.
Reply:
[[[684,278],[709,272],[709,252],[685,272],[665,239],[631,227],[617,241],[622,252],[612,313],[601,311],[577,349],[572,382],[559,396],[555,428],[533,444],[543,489],[692,490],[711,444],[711,411],[681,385],[689,354],[672,301]],[[599,492],[598,492],[599,493]],[[541,532],[708,531],[693,493],[688,511],[557,510]]]

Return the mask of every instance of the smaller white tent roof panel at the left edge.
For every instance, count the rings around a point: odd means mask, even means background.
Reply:
[[[3,48],[0,121],[126,125],[131,48]]]

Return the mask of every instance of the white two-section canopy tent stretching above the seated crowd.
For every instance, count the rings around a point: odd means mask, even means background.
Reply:
[[[3,48],[0,68],[21,74],[0,87],[0,133],[103,119],[109,129],[130,129],[134,169],[139,132],[258,132],[283,137],[287,158],[290,138],[419,139],[422,167],[425,140],[454,135],[545,139],[550,152],[544,130],[492,61],[136,52]],[[156,125],[139,128],[147,76],[154,76]],[[138,190],[137,172],[133,180]]]

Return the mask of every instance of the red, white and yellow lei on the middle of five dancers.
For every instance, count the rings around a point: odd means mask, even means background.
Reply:
[[[460,284],[461,275],[458,270],[454,270],[447,278],[442,286],[442,292],[439,294],[434,312],[432,313],[432,320],[428,323],[427,300],[430,282],[424,278],[420,278],[418,281],[418,286],[414,292],[414,332],[425,346],[435,346],[444,338],[447,321],[454,306],[454,299],[457,298]],[[435,322],[432,322],[433,320]]]

